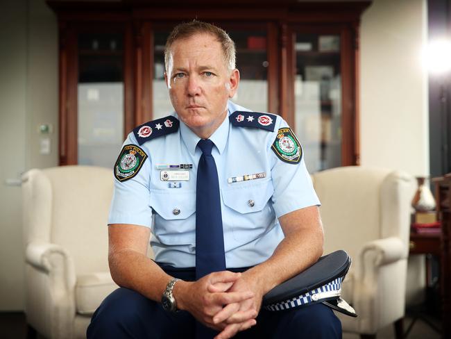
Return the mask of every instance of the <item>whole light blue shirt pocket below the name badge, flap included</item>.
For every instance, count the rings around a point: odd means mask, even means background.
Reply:
[[[196,192],[151,190],[149,204],[155,213],[153,234],[166,245],[190,245],[196,240]]]

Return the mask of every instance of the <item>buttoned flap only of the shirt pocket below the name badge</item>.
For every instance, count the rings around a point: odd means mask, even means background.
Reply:
[[[196,192],[151,190],[149,204],[166,220],[187,219],[196,210]]]

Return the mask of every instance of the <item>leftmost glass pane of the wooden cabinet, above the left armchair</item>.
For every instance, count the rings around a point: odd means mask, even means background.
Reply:
[[[78,164],[112,167],[124,138],[124,38],[78,35]]]

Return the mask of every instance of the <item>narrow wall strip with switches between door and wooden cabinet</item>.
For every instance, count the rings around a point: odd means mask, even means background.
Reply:
[[[26,0],[21,0],[26,1]],[[58,26],[44,0],[28,0],[27,169],[58,165]],[[53,131],[40,134],[40,124]],[[50,154],[40,154],[40,140],[49,138]]]

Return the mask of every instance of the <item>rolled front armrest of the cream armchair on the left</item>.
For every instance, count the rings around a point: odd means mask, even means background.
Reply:
[[[26,247],[25,261],[49,274],[55,283],[63,283],[67,290],[74,288],[76,283],[74,261],[60,245],[41,241],[30,242]]]

